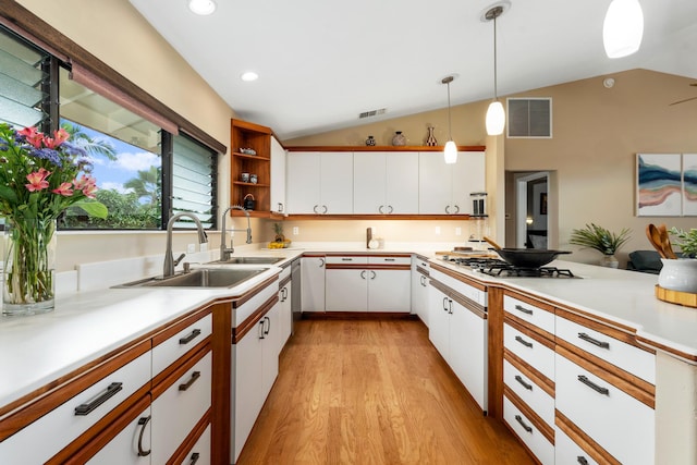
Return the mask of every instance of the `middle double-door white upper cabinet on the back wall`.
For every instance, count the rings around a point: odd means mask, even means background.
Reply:
[[[418,213],[418,152],[354,152],[353,167],[354,213]]]

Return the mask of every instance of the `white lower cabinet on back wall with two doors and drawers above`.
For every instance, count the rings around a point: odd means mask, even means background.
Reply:
[[[327,311],[411,309],[411,257],[327,257]]]

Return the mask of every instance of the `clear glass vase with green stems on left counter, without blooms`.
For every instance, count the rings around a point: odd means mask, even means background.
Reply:
[[[51,311],[56,299],[56,220],[5,219],[2,315]]]

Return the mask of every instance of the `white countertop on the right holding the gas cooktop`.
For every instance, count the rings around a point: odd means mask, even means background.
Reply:
[[[697,356],[697,308],[659,301],[655,295],[658,274],[554,260],[549,266],[570,269],[580,279],[494,278],[438,258],[431,261],[484,283],[519,290],[615,321],[658,346]]]

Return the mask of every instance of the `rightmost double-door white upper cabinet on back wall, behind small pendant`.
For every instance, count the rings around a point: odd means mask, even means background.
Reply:
[[[472,215],[469,194],[485,191],[484,151],[460,151],[453,164],[440,151],[423,151],[418,168],[420,215]]]

